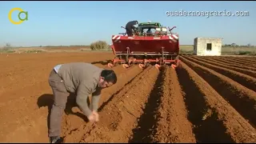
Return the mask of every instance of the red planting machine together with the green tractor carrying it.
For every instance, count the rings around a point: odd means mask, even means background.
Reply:
[[[179,62],[179,42],[178,34],[171,33],[174,28],[168,27],[167,30],[159,22],[142,22],[131,37],[126,36],[126,33],[112,35],[111,48],[116,57],[108,66],[113,67],[119,63],[127,68],[139,64],[144,68],[147,64],[154,64],[159,68],[170,64],[175,69]]]

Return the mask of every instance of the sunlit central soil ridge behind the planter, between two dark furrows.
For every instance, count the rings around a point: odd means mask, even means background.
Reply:
[[[176,71],[166,66],[161,81],[162,93],[158,95],[161,104],[155,126],[157,132],[151,135],[153,142],[196,142],[193,126],[187,118],[186,105]]]

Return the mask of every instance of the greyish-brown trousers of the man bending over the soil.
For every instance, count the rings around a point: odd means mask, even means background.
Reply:
[[[70,93],[66,90],[62,78],[60,78],[54,70],[50,72],[49,85],[54,93],[54,104],[50,111],[50,129],[48,136],[60,136],[62,114],[66,108],[67,97]]]

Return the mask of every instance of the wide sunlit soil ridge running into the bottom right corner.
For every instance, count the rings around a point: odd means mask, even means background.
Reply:
[[[228,134],[228,136],[223,136],[223,138],[207,138],[206,142],[256,142],[256,131],[254,127],[252,127],[246,119],[242,118],[242,116],[238,114],[238,112],[234,110],[234,108],[230,106],[230,104],[226,102],[226,100],[222,98],[222,96],[220,96],[204,79],[194,72],[194,70],[184,62],[181,62],[181,64],[182,68],[189,74],[190,81],[192,80],[196,86],[190,86],[194,88],[190,88],[190,92],[193,94],[193,90],[199,90],[203,95],[206,106],[210,108],[204,115],[202,123],[209,122],[208,126],[212,126],[212,129],[207,129],[208,131],[203,138],[211,137],[209,134],[210,132],[216,136],[220,135],[219,133]],[[190,81],[187,80],[186,82]],[[214,126],[211,122],[216,120],[218,121],[218,125]],[[205,128],[207,127],[203,127],[202,125],[202,129]]]

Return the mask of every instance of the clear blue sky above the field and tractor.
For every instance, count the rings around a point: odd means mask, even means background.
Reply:
[[[29,20],[14,25],[8,13],[14,7],[28,11]],[[223,38],[223,43],[256,45],[256,2],[0,2],[0,46],[90,45],[111,35],[124,32],[130,20],[161,22],[177,26],[180,44],[193,44],[196,37]],[[178,16],[173,10],[249,11],[246,17]],[[18,20],[18,11],[12,14]]]

